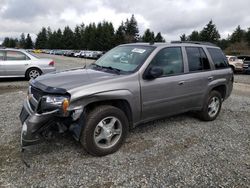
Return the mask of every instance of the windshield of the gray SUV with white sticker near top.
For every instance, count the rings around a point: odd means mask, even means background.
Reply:
[[[91,68],[117,73],[132,73],[144,63],[154,49],[153,46],[118,46],[98,59]]]

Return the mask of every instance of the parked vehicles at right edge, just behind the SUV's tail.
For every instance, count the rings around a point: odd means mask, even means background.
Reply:
[[[250,73],[250,55],[226,56],[234,72]]]

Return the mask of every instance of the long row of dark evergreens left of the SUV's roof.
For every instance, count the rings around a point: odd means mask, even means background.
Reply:
[[[20,40],[5,38],[3,46],[19,48],[36,49],[86,49],[107,51],[116,45],[131,42],[164,42],[161,33],[154,34],[147,29],[140,36],[139,28],[135,16],[122,22],[117,30],[114,29],[111,22],[103,21],[98,24],[76,25],[74,30],[66,26],[63,30],[60,28],[52,31],[50,27],[42,29],[37,34],[35,43],[30,43],[30,35],[24,37],[21,34]]]

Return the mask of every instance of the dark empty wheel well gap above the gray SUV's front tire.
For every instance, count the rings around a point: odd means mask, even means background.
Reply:
[[[91,112],[95,108],[98,108],[98,106],[103,106],[103,105],[114,106],[114,107],[122,110],[125,113],[126,117],[128,118],[129,128],[132,128],[132,125],[133,125],[132,110],[131,110],[131,107],[130,107],[128,101],[123,100],[123,99],[97,101],[97,102],[90,103],[85,107],[86,113],[88,114],[89,112]]]

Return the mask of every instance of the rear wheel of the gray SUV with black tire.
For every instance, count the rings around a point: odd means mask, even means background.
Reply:
[[[211,112],[213,110],[212,108],[210,108],[210,104],[213,102],[213,100],[216,100],[218,102],[218,108],[216,107],[217,110],[216,111],[214,110],[214,113]],[[203,109],[200,112],[198,112],[199,118],[203,121],[215,120],[220,113],[221,105],[222,105],[221,94],[215,90],[211,91],[207,100],[205,101]]]

